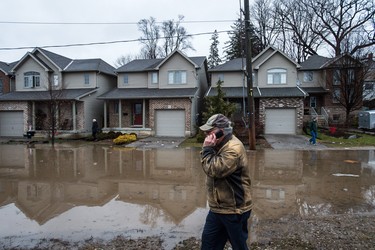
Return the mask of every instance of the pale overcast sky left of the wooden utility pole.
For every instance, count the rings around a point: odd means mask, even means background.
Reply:
[[[186,23],[182,23],[182,26],[189,34],[194,35],[191,43],[196,51],[189,50],[185,53],[188,56],[208,57],[212,34],[195,34],[213,32],[215,29],[218,32],[230,30],[234,20],[239,17],[240,5],[243,7],[243,2],[243,0],[1,0],[0,61],[8,63],[17,61],[28,51],[33,50],[32,48],[4,50],[4,48],[135,40],[142,35],[136,25],[139,20],[150,17],[156,18],[158,22],[178,20],[178,15],[185,17]],[[250,0],[250,4],[251,2]],[[30,24],[30,22],[44,24]],[[228,35],[219,33],[219,40],[219,50],[222,53]],[[140,46],[139,42],[133,41],[45,49],[71,59],[101,58],[114,65],[120,56],[139,54]]]

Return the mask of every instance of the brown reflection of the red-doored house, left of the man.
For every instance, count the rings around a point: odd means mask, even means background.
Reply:
[[[197,207],[206,207],[197,151],[133,150],[119,155],[123,160],[116,180],[120,200],[162,209],[176,224]]]

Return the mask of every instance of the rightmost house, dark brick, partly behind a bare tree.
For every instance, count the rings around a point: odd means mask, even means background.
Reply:
[[[349,55],[335,58],[313,55],[302,62],[298,78],[301,88],[309,94],[304,103],[305,115],[317,116],[321,125],[343,124],[345,108],[337,97],[342,97],[344,89],[355,87],[354,82],[360,78],[361,67],[360,62]],[[362,89],[362,84],[359,88]],[[360,108],[362,93],[356,93],[355,98],[360,99],[357,106]]]

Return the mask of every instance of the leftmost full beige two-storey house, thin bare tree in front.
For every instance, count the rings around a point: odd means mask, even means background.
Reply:
[[[103,60],[72,60],[41,48],[26,53],[11,72],[15,89],[0,96],[0,136],[47,133],[50,114],[60,134],[87,134],[93,118],[103,124],[103,101],[96,97],[116,86],[114,68]]]

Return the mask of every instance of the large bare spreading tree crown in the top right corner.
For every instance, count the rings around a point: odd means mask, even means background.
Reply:
[[[354,55],[359,50],[375,45],[375,2],[369,0],[302,0],[310,16],[316,17],[311,31],[334,55]],[[348,40],[356,41],[348,43]],[[348,47],[350,44],[350,47]]]

